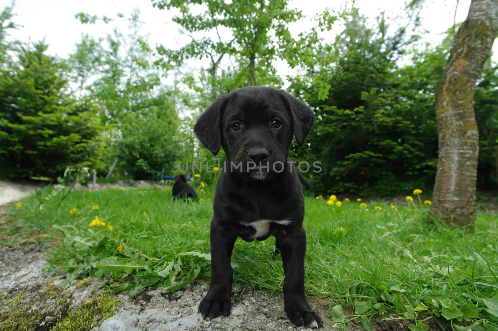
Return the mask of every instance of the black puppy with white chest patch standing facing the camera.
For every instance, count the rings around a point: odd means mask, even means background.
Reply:
[[[292,137],[301,145],[313,125],[311,109],[282,90],[247,87],[223,95],[197,120],[194,132],[214,155],[227,155],[216,186],[211,221],[211,283],[199,305],[203,317],[228,316],[230,259],[237,237],[276,238],[285,273],[285,313],[295,325],[323,326],[304,297],[304,198],[288,158]]]

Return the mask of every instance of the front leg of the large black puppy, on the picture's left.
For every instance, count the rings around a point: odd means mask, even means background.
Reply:
[[[211,282],[208,294],[199,305],[204,318],[228,316],[231,307],[232,266],[230,259],[237,239],[236,235],[223,231],[216,220],[211,221]]]

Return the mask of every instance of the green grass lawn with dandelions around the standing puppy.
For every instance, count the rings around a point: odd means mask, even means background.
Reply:
[[[130,296],[144,287],[176,290],[210,275],[211,186],[197,203],[172,201],[171,191],[158,187],[73,191],[64,199],[45,190],[11,214],[19,218],[17,229],[43,230],[53,240],[48,260],[68,273],[67,282],[103,277],[109,289],[130,290]],[[72,208],[78,213],[70,215]],[[104,226],[89,226],[96,216]],[[412,330],[425,330],[424,322],[498,330],[496,215],[480,212],[469,231],[431,217],[417,199],[395,210],[383,201],[362,209],[356,201],[338,207],[307,197],[304,227],[306,291],[331,300],[333,322],[356,319],[368,330],[371,321],[388,317],[410,320]],[[273,238],[238,239],[234,281],[281,291],[274,246]],[[348,307],[352,313],[344,316]]]

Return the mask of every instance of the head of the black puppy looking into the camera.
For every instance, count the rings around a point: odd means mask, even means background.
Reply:
[[[302,145],[315,116],[285,91],[253,86],[218,98],[197,120],[194,132],[213,153],[223,147],[231,169],[263,180],[280,172],[292,137]],[[276,171],[275,171],[276,170]]]

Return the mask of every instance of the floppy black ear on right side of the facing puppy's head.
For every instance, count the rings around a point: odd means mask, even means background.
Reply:
[[[290,111],[296,142],[301,146],[313,126],[315,114],[307,104],[286,91],[280,90],[280,97]]]

